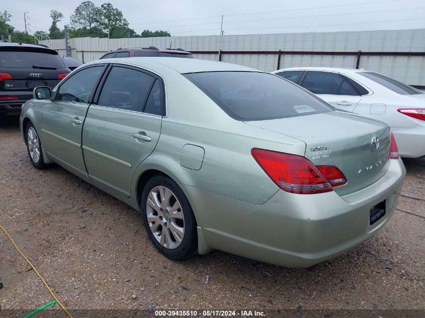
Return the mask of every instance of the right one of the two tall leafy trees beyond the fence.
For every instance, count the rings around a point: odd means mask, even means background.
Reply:
[[[131,30],[128,28],[128,21],[124,19],[123,13],[110,3],[101,6],[99,24],[104,32],[109,33],[111,39],[128,37],[128,32]],[[134,30],[132,31],[134,32]]]

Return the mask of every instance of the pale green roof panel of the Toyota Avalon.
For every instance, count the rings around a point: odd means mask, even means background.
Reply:
[[[263,72],[255,68],[200,59],[177,59],[175,57],[123,57],[119,59],[101,59],[94,61],[96,63],[125,63],[141,66],[152,71],[161,73],[164,68],[172,69],[179,73],[196,73],[196,72],[214,72],[214,71],[247,71],[247,72]],[[91,63],[94,63],[91,62]],[[91,64],[88,63],[88,64]]]

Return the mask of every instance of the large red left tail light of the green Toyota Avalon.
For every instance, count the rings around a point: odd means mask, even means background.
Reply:
[[[347,182],[338,168],[316,167],[301,156],[257,148],[251,150],[251,155],[281,189],[290,193],[323,193]]]

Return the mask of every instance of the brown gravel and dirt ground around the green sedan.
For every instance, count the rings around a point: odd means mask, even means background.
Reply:
[[[0,224],[69,309],[425,309],[423,159],[405,160],[405,196],[382,231],[310,271],[219,251],[165,259],[136,210],[59,166],[34,169],[16,120],[0,124],[0,163]],[[3,311],[52,300],[2,231],[0,253]]]

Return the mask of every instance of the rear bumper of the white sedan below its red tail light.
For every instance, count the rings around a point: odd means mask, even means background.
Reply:
[[[413,128],[391,128],[401,157],[425,156],[425,122]]]

